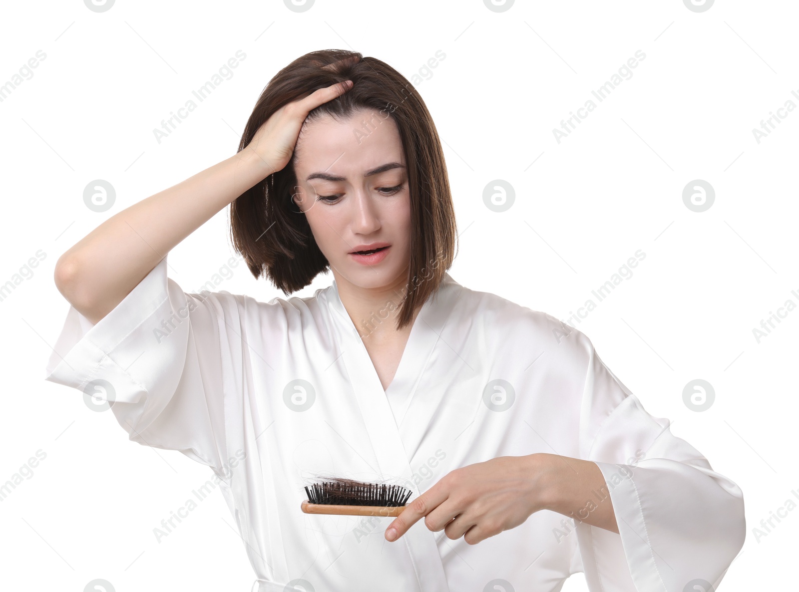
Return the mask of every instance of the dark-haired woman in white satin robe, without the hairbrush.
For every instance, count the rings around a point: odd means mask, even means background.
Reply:
[[[332,285],[269,303],[183,292],[166,253],[228,204],[254,276],[288,295],[329,269]],[[262,592],[560,590],[578,571],[597,591],[717,585],[743,544],[741,490],[582,332],[456,282],[455,236],[415,89],[375,58],[307,54],[235,156],[62,255],[72,306],[47,379],[212,467]],[[319,473],[414,495],[396,518],[305,515]]]

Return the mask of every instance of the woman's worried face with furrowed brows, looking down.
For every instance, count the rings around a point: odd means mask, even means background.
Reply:
[[[411,201],[394,120],[376,110],[341,122],[323,117],[304,125],[295,152],[293,198],[336,282],[386,288],[406,281]],[[384,244],[376,256],[353,254]]]

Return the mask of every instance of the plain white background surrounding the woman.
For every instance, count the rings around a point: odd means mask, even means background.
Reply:
[[[54,265],[102,221],[237,150],[256,98],[312,50],[360,51],[416,88],[443,141],[459,226],[459,283],[566,320],[634,252],[646,258],[578,324],[602,360],[656,417],[744,491],[747,538],[721,590],[794,581],[799,511],[759,540],[753,528],[799,499],[799,312],[757,342],[753,328],[785,300],[799,304],[796,137],[788,113],[758,143],[752,129],[799,99],[794,2],[9,2],[2,8],[0,84],[42,50],[30,79],[0,102],[2,266],[11,280],[41,249],[34,275],[0,301],[5,379],[0,483],[35,452],[46,459],[0,502],[3,587],[248,590],[252,569],[221,494],[169,536],[153,529],[210,475],[176,451],[130,443],[110,413],[43,381],[69,305]],[[246,59],[169,137],[153,129],[243,50]],[[442,50],[446,58],[424,70]],[[642,50],[632,77],[591,95]],[[558,142],[561,120],[597,108]],[[196,101],[197,102],[197,101]],[[113,208],[88,209],[95,179]],[[504,213],[483,203],[501,179]],[[696,213],[683,188],[702,179],[714,204]],[[169,255],[187,292],[233,254],[228,210]],[[297,292],[331,284],[318,276]],[[218,290],[283,296],[243,264]],[[595,298],[593,298],[596,301]],[[574,321],[572,321],[574,324]],[[682,399],[692,379],[715,391],[706,411]],[[793,550],[792,550],[793,548]],[[180,586],[178,588],[178,586]],[[478,588],[475,588],[478,590]],[[582,575],[563,590],[586,590]]]

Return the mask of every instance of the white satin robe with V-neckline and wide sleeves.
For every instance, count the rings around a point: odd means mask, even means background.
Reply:
[[[743,545],[741,489],[552,316],[447,274],[384,391],[335,281],[263,303],[185,293],[166,270],[97,324],[70,307],[46,379],[104,379],[129,439],[211,467],[260,592],[548,592],[581,571],[592,592],[706,590],[694,581],[716,585]],[[403,484],[410,502],[535,452],[596,463],[620,532],[539,511],[476,545],[423,519],[387,542],[393,518],[300,511],[317,473]]]

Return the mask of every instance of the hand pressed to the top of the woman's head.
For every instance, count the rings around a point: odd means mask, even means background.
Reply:
[[[352,81],[336,82],[286,103],[260,125],[244,150],[255,153],[264,161],[267,174],[282,170],[292,158],[300,129],[308,113],[322,103],[344,94],[352,88],[352,84]]]

